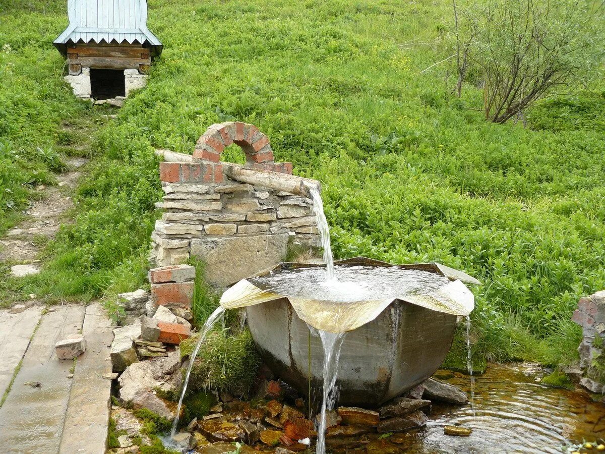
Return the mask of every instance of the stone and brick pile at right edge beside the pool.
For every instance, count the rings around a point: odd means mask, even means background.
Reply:
[[[605,384],[595,380],[598,369],[605,371],[605,290],[580,298],[578,308],[574,311],[572,321],[582,327],[580,368],[584,377],[580,384],[595,392],[605,392]]]

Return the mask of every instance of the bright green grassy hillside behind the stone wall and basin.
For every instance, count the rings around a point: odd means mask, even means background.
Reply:
[[[65,24],[62,2],[47,3],[0,8],[0,44],[11,46],[0,71],[11,63],[11,77],[47,109],[38,110],[44,121],[26,121],[31,131],[8,130],[18,147],[85,109],[62,87],[49,45]],[[99,131],[96,170],[76,222],[51,245],[54,261],[5,288],[51,300],[137,288],[161,196],[153,149],[191,153],[208,125],[237,119],[261,128],[296,174],[322,181],[338,257],[463,269],[485,283],[473,313],[476,354],[571,360],[575,303],[605,288],[603,85],[545,100],[526,128],[493,125],[482,119],[480,74],[457,99],[448,63],[421,72],[451,54],[448,2],[149,7],[165,51],[148,87]],[[26,68],[32,61],[36,71]],[[17,85],[0,87],[5,105]]]

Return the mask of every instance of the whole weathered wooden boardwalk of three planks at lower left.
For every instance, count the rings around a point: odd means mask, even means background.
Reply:
[[[98,303],[42,312],[0,312],[0,393],[10,388],[0,407],[2,452],[104,453],[111,380],[102,376],[111,372],[110,321]],[[58,360],[54,344],[78,332],[86,352],[75,364]]]

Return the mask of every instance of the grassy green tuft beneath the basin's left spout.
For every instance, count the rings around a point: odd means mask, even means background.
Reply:
[[[245,395],[257,375],[260,359],[250,332],[211,331],[200,347],[188,390],[218,390]],[[191,355],[198,335],[181,343],[181,355]]]

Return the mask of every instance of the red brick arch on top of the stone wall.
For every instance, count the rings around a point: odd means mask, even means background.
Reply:
[[[210,126],[195,144],[195,162],[219,163],[223,150],[235,143],[246,155],[246,167],[292,173],[289,162],[275,163],[269,138],[257,127],[244,122],[225,122]]]

